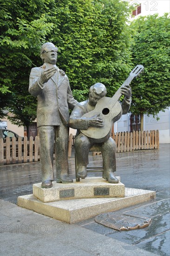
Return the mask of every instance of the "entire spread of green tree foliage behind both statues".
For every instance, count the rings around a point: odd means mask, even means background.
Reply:
[[[78,101],[96,82],[112,96],[142,64],[144,74],[131,83],[131,112],[157,115],[170,106],[168,14],[139,17],[128,26],[131,10],[120,0],[0,0],[0,6],[0,118],[4,108],[18,125],[36,118],[29,73],[41,65],[39,48],[46,41],[59,47],[57,65]]]

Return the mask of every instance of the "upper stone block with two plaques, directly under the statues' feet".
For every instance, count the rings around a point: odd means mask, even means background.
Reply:
[[[98,198],[98,197],[124,197],[125,187],[120,182],[111,184],[101,177],[88,177],[80,182],[56,183],[52,188],[43,189],[41,183],[33,184],[33,196],[41,202],[56,202],[67,199]]]

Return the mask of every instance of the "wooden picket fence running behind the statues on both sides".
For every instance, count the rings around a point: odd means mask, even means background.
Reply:
[[[119,132],[111,136],[117,145],[117,153],[141,149],[159,148],[159,131]],[[75,136],[69,137],[68,156],[71,157]],[[97,152],[99,154],[99,152]],[[93,152],[96,155],[96,152]],[[31,136],[0,139],[0,165],[39,161],[39,137]]]

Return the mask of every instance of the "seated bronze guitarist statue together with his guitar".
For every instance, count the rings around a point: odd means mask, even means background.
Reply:
[[[129,84],[143,70],[144,66],[137,65],[112,98],[105,97],[107,91],[104,84],[94,84],[89,90],[89,99],[74,107],[69,126],[78,129],[74,144],[78,164],[76,181],[87,176],[89,150],[92,146],[99,146],[103,157],[103,178],[109,183],[119,182],[114,175],[116,143],[110,136],[111,128],[115,121],[118,121],[123,114],[128,113],[131,106]],[[120,104],[119,99],[122,95],[124,95],[124,100]]]

